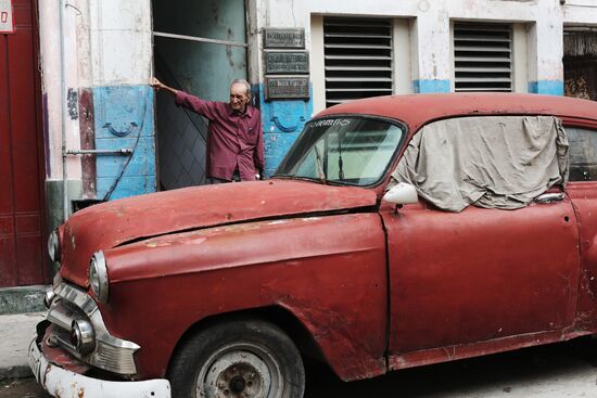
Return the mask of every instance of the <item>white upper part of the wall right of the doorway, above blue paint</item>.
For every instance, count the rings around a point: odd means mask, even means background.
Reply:
[[[515,24],[515,89],[526,91],[526,84],[536,80],[563,80],[562,28],[564,24],[597,24],[597,0],[251,0],[252,17],[258,27],[303,27],[308,50],[319,52],[320,18],[314,15],[384,16],[409,20],[409,53],[411,79],[453,79],[450,51],[450,22],[484,21]],[[404,33],[402,29],[395,33]],[[258,29],[254,30],[255,35]],[[401,39],[402,40],[402,39]],[[254,44],[262,44],[261,37]],[[404,56],[404,54],[403,54]],[[251,61],[253,74],[258,77],[261,57]],[[314,87],[320,80],[321,65],[312,56]],[[403,70],[404,73],[404,70]],[[255,78],[253,77],[253,79]],[[396,90],[404,90],[398,82]],[[321,101],[315,98],[315,111]]]

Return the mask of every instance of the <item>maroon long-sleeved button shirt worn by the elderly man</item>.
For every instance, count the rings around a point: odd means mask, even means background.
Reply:
[[[265,166],[259,111],[247,106],[241,115],[226,102],[205,101],[182,91],[176,95],[176,104],[209,119],[207,177],[232,180],[238,167],[242,181],[255,180]]]

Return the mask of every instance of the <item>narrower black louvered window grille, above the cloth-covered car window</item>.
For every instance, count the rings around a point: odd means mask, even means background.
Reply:
[[[454,25],[456,91],[512,91],[512,27]]]

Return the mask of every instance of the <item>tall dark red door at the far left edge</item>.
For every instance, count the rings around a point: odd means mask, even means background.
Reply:
[[[48,281],[34,0],[15,0],[0,36],[0,287]]]

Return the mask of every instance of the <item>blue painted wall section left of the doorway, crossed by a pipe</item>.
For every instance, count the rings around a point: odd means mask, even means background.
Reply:
[[[93,89],[93,106],[96,149],[135,151],[132,157],[96,156],[97,198],[155,192],[153,89],[149,86],[98,87]]]

